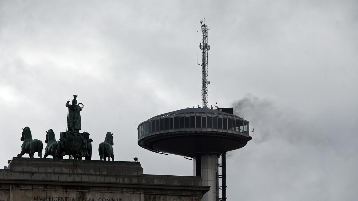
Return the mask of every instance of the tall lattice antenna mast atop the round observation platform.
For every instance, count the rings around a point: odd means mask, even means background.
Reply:
[[[208,81],[208,50],[210,50],[210,45],[208,45],[208,25],[204,24],[203,20],[200,20],[200,28],[202,32],[202,41],[200,42],[199,48],[202,50],[202,64],[199,64],[203,67],[203,77],[202,77],[202,100],[203,100],[203,108],[208,108],[208,92],[209,92],[209,84],[210,81]]]

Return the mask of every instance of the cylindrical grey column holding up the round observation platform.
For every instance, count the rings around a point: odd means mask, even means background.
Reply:
[[[216,154],[199,154],[194,156],[194,176],[201,176],[203,179],[202,185],[210,186],[210,190],[203,196],[203,201],[218,200],[218,163],[219,156]],[[198,167],[199,164],[200,167]],[[200,175],[198,175],[199,169]]]

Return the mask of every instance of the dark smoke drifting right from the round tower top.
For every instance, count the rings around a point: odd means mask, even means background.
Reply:
[[[253,141],[263,143],[271,139],[283,139],[290,143],[318,142],[319,125],[312,124],[307,117],[292,109],[284,109],[275,102],[246,94],[233,103],[234,114],[248,120]],[[325,139],[327,140],[327,139]]]

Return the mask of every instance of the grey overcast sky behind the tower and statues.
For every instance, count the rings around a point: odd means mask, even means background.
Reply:
[[[92,159],[110,131],[115,160],[193,175],[192,161],[139,147],[137,126],[201,104],[204,17],[209,104],[234,107],[255,129],[228,153],[228,200],[357,200],[354,0],[0,1],[3,166],[25,126],[44,146],[45,131],[58,138],[76,94]]]

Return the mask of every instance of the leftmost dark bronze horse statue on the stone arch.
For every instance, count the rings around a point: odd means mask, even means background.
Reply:
[[[29,154],[30,158],[34,157],[35,152],[38,152],[39,157],[42,157],[42,142],[40,140],[33,140],[30,128],[26,126],[23,129],[21,141],[23,144],[21,145],[21,153],[17,156],[21,158],[24,154]]]

